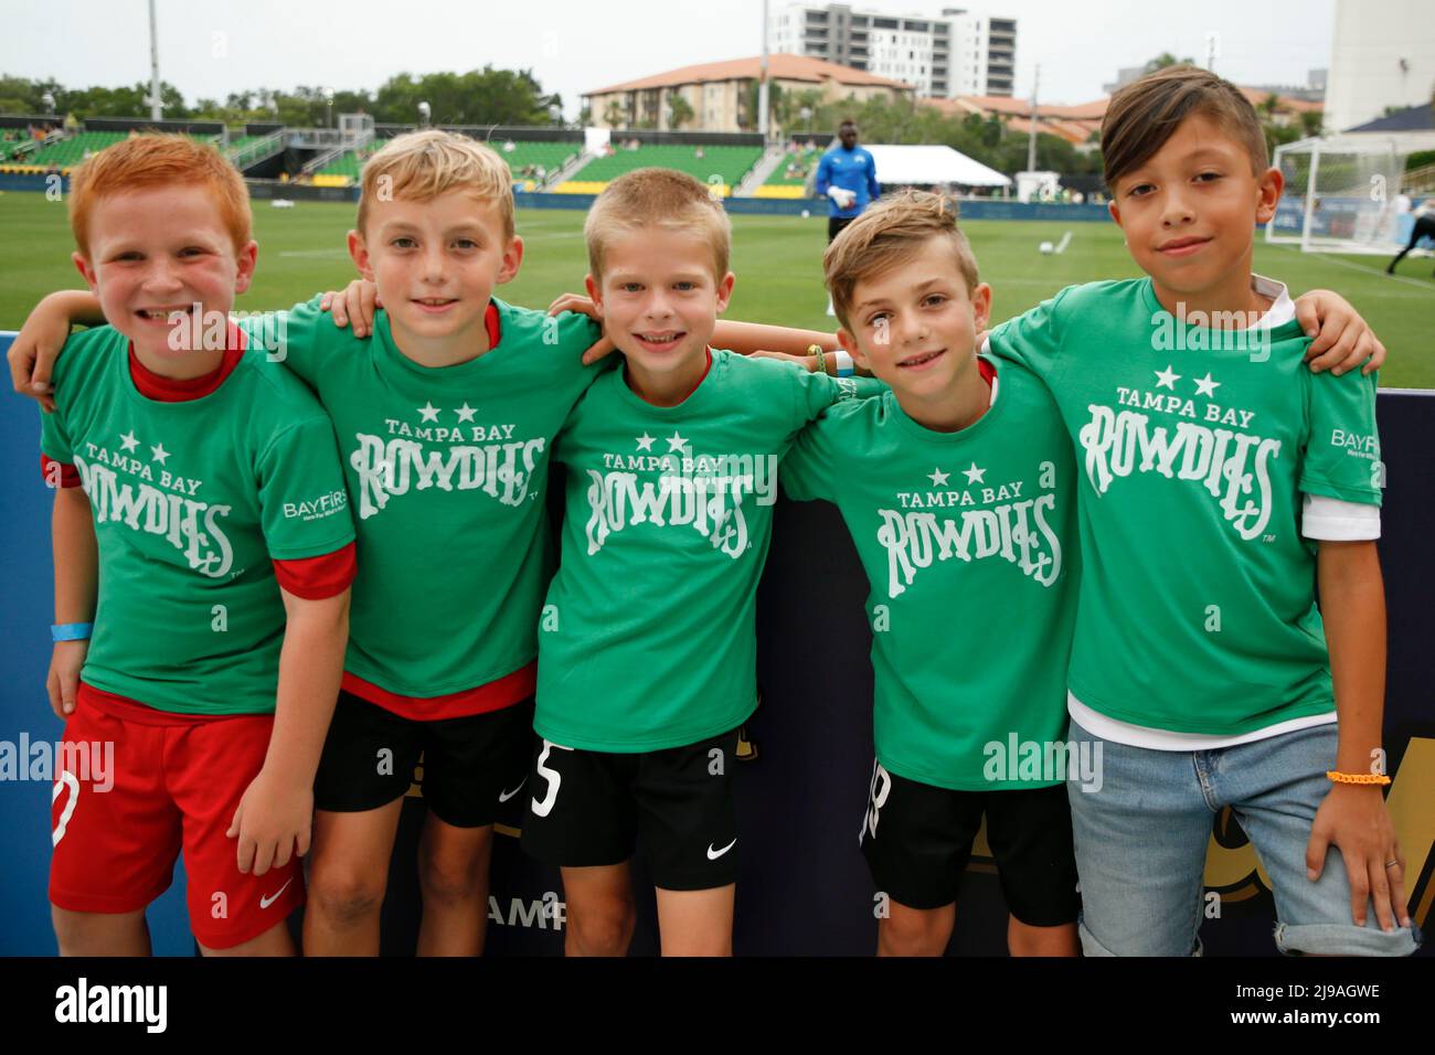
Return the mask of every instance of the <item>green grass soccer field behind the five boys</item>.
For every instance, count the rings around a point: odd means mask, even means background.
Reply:
[[[276,210],[254,207],[260,266],[254,286],[237,307],[287,307],[353,277],[344,233],[353,207],[298,202]],[[499,296],[518,304],[547,306],[557,294],[583,290],[587,255],[577,210],[530,210],[518,214],[524,266]],[[1137,274],[1115,224],[1073,222],[1062,255],[1040,255],[1038,244],[1056,241],[1063,224],[973,221],[964,225],[982,277],[994,291],[993,317],[1007,319],[1072,283]],[[728,317],[812,329],[831,329],[824,313],[822,218],[733,217],[733,271],[738,284]],[[69,224],[62,202],[40,194],[0,192],[0,329],[19,329],[44,293],[75,287]],[[1380,370],[1386,388],[1435,389],[1435,280],[1431,260],[1405,260],[1401,274],[1383,273],[1383,257],[1303,254],[1257,241],[1256,270],[1286,281],[1292,293],[1333,289],[1370,322],[1391,357]]]

